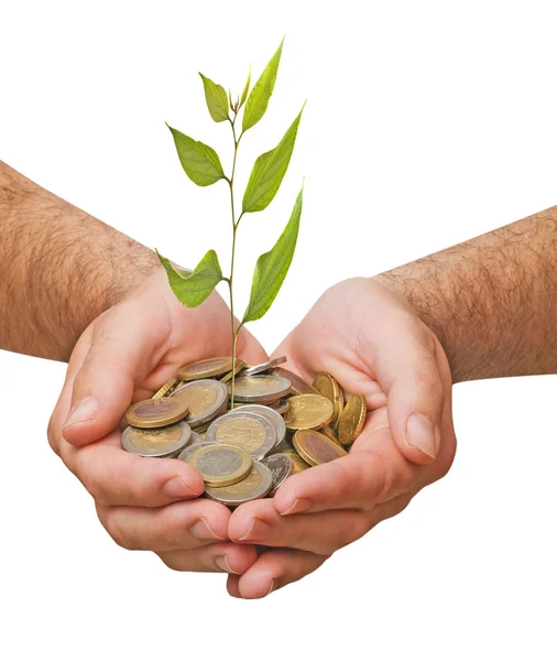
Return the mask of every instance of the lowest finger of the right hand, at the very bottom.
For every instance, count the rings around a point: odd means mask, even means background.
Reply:
[[[260,599],[272,592],[315,572],[327,556],[292,549],[261,554],[242,576],[229,576],[228,594],[243,599]]]

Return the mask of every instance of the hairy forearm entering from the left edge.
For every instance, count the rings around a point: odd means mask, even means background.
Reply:
[[[160,267],[130,237],[0,161],[0,348],[66,360],[87,325]]]

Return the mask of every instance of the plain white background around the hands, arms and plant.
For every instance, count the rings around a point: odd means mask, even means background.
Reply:
[[[225,256],[226,187],[187,180],[164,121],[229,167],[197,72],[241,90],[286,33],[239,175],[307,98],[283,187],[239,236],[245,302],[306,176],[292,271],[252,327],[271,350],[328,284],[557,203],[553,4],[2,0],[0,158],[179,263]],[[0,353],[0,658],[556,658],[557,378],[458,386],[450,474],[314,575],[248,603],[222,575],[176,574],[108,538],[47,446],[63,377]]]

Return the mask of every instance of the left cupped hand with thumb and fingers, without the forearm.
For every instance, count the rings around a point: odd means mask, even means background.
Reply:
[[[228,539],[230,511],[203,494],[184,462],[140,457],[120,445],[131,402],[151,397],[188,362],[231,353],[230,311],[214,293],[188,310],[163,269],[83,334],[48,425],[48,441],[94,497],[102,525],[125,549],[151,550],[182,571],[244,572],[251,545]],[[256,365],[261,345],[242,329],[238,355]]]

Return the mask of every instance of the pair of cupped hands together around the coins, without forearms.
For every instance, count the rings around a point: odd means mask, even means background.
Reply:
[[[230,346],[223,300],[214,293],[186,308],[161,269],[76,344],[48,440],[118,544],[153,551],[173,570],[226,572],[230,595],[258,598],[315,571],[446,474],[456,447],[451,377],[437,338],[385,286],[363,278],[336,284],[273,356],[286,356],[284,367],[309,382],[326,371],[347,393],[362,393],[365,426],[348,456],[230,512],[197,498],[204,483],[185,462],[123,451],[119,426],[131,402],[179,367]],[[245,328],[238,355],[267,360]]]

